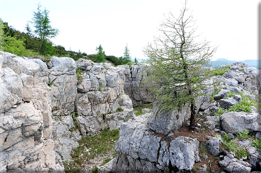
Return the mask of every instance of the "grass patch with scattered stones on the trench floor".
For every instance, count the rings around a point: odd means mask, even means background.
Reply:
[[[106,155],[109,150],[115,147],[114,141],[119,139],[119,130],[109,131],[105,128],[100,134],[86,136],[79,141],[79,147],[71,154],[73,161],[65,165],[65,172],[75,172],[81,164],[99,155]],[[116,156],[116,152],[114,154]],[[109,158],[104,164],[109,162]],[[78,171],[79,172],[79,171]]]

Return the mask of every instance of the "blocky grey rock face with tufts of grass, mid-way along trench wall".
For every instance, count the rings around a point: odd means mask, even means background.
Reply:
[[[108,127],[120,127],[122,122],[134,118],[131,99],[124,94],[123,68],[108,63],[90,63],[79,59],[77,67],[84,71],[83,81],[77,85],[75,103],[79,112],[77,122],[84,136],[95,135]],[[123,111],[119,111],[123,109]]]

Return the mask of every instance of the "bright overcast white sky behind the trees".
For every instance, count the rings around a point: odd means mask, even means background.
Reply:
[[[132,58],[142,52],[153,36],[159,36],[164,14],[178,16],[183,0],[0,0],[0,18],[24,31],[40,2],[49,10],[52,26],[60,33],[52,39],[66,50],[95,54],[100,44],[106,55],[120,57],[126,43]],[[258,3],[260,0],[189,0],[202,37],[219,45],[212,60],[256,60],[258,50]],[[33,27],[32,27],[33,28]]]

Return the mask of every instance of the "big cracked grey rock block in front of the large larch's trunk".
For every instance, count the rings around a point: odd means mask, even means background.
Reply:
[[[146,127],[149,116],[145,113],[122,123],[113,172],[161,172],[170,164],[178,170],[191,170],[200,161],[197,139],[179,136],[168,147]]]

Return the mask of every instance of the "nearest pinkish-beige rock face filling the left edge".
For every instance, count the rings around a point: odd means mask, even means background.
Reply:
[[[8,55],[0,55],[0,167],[8,172],[52,172],[57,165],[50,88],[39,83],[38,64]]]

